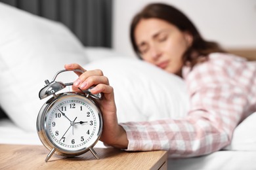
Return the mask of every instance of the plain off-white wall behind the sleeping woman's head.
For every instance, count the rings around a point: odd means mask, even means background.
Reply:
[[[120,54],[135,56],[129,41],[134,14],[152,0],[114,0],[112,46]],[[228,49],[256,49],[255,0],[161,0],[181,9],[203,37]]]

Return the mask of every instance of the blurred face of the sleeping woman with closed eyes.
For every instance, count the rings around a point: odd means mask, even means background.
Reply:
[[[192,36],[158,18],[140,20],[135,27],[135,42],[140,56],[161,69],[181,76],[182,56]]]

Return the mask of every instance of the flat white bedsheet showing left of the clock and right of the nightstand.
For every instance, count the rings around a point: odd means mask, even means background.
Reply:
[[[42,145],[35,132],[27,132],[9,119],[0,120],[0,144],[37,144]],[[95,147],[105,147],[100,141]],[[0,151],[1,152],[1,151]],[[186,158],[168,160],[168,169],[191,170],[191,169],[218,169],[218,170],[251,170],[256,169],[256,152],[223,150],[201,156],[198,158]]]

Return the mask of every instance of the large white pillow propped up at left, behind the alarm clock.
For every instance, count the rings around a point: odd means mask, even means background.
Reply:
[[[82,44],[58,22],[0,3],[0,105],[18,126],[35,131],[44,80],[65,63],[87,63]]]

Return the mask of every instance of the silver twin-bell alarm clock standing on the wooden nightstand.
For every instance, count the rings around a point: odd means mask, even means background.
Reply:
[[[102,133],[102,114],[95,103],[102,93],[93,94],[89,90],[77,92],[59,91],[72,86],[72,82],[57,82],[56,77],[67,70],[54,75],[53,80],[45,80],[45,87],[39,92],[39,98],[51,96],[39,110],[37,116],[37,134],[43,145],[50,151],[45,161],[53,154],[74,157],[91,151],[99,159],[93,146]],[[83,73],[79,69],[75,72]],[[56,93],[59,92],[59,93]]]

